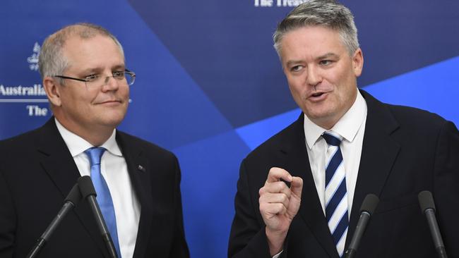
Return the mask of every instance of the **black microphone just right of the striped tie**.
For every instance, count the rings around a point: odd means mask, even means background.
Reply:
[[[354,235],[352,235],[350,245],[345,252],[346,258],[354,257],[357,253],[357,247],[359,247],[362,235],[364,235],[366,225],[368,224],[371,215],[373,215],[376,206],[378,206],[378,203],[379,198],[376,195],[366,195],[364,202],[362,202],[362,207],[360,207],[360,218],[359,221],[357,221]]]

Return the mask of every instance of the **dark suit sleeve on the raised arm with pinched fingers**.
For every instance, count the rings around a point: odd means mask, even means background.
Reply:
[[[270,258],[265,225],[257,219],[258,202],[252,202],[254,197],[250,195],[244,160],[239,171],[237,193],[234,199],[236,214],[229,235],[229,258]]]

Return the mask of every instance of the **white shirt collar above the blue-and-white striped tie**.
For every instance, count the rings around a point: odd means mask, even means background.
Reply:
[[[330,130],[341,135],[344,140],[352,142],[365,118],[366,102],[362,94],[357,90],[357,98],[354,104]],[[304,115],[304,136],[309,149],[314,146],[324,132],[326,132],[326,129],[316,125]]]

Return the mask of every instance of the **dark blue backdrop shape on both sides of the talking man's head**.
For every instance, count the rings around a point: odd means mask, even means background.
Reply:
[[[235,127],[294,108],[270,39],[291,8],[252,0],[130,2]],[[458,1],[345,4],[366,58],[361,86],[459,54]]]

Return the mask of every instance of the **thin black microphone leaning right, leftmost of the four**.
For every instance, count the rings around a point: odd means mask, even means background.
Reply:
[[[78,202],[80,202],[81,198],[82,197],[80,188],[78,188],[78,183],[76,183],[75,185],[73,185],[73,188],[68,193],[64,205],[59,210],[56,217],[54,217],[54,219],[49,224],[44,233],[40,236],[40,238],[38,238],[34,247],[32,248],[32,250],[30,250],[29,254],[27,255],[27,258],[36,257],[40,253],[44,245],[49,240],[49,237],[51,237],[52,233],[54,233],[54,230],[56,230],[57,226],[59,226],[59,223],[61,223],[66,214],[68,214],[68,211],[70,211],[71,209],[73,209],[73,207],[76,207],[78,205]]]

